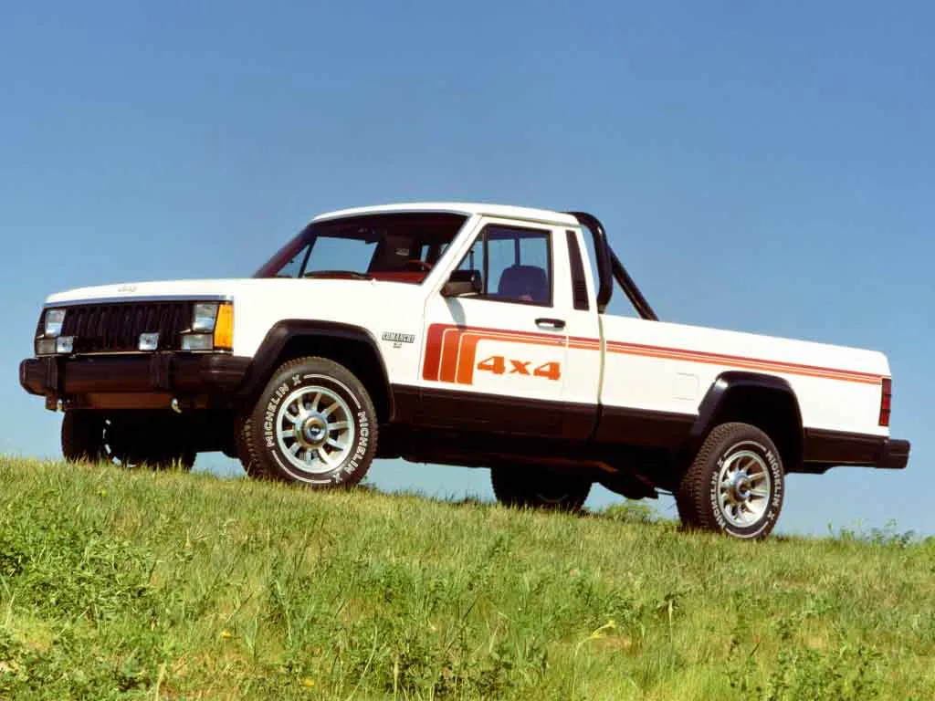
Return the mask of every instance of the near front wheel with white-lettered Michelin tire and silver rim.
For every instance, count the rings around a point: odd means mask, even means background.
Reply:
[[[326,358],[290,361],[273,374],[240,435],[254,477],[313,488],[351,486],[377,452],[377,414],[363,383]]]

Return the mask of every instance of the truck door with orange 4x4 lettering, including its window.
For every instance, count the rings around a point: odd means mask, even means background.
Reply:
[[[560,435],[568,336],[555,307],[558,241],[549,226],[482,222],[457,265],[480,274],[481,292],[439,291],[426,305],[424,425]]]

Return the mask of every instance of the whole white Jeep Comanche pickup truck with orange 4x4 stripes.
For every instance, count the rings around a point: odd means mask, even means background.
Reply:
[[[614,282],[632,318],[605,313]],[[53,294],[35,349],[21,384],[65,411],[73,461],[220,450],[312,487],[375,457],[486,466],[505,504],[581,508],[599,482],[760,537],[787,474],[909,457],[883,354],[659,322],[583,212],[332,212],[252,279]]]

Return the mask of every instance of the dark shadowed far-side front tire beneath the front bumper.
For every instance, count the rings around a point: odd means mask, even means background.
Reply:
[[[166,426],[108,417],[93,411],[68,411],[62,421],[62,453],[69,463],[108,462],[120,467],[147,465],[164,470],[192,469],[195,451],[184,436]]]

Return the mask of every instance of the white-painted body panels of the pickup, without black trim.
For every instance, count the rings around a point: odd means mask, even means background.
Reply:
[[[574,218],[552,211],[466,204],[416,204],[333,212],[316,221],[390,211],[453,211],[468,220],[421,284],[363,279],[215,279],[115,284],[51,295],[47,307],[101,299],[224,298],[234,303],[234,354],[252,357],[277,322],[320,320],[367,329],[381,350],[395,385],[473,393],[495,393],[578,404],[647,409],[692,415],[712,382],[726,370],[751,370],[789,382],[805,427],[888,436],[878,425],[881,386],[889,377],[885,356],[819,343],[733,331],[598,315],[596,284],[587,247]],[[551,306],[511,304],[440,291],[473,239],[488,223],[532,226],[552,232]],[[578,237],[590,309],[575,310],[566,232]],[[566,322],[543,329],[536,320]],[[470,383],[432,379],[425,365],[433,324],[495,330],[476,345]],[[413,343],[382,340],[384,332],[411,334]],[[452,332],[453,333],[453,332]],[[485,332],[486,333],[486,332]],[[529,342],[523,335],[537,335]],[[559,364],[557,381],[478,370],[484,358],[502,355],[528,368]],[[459,353],[456,365],[467,362]],[[442,363],[444,365],[444,362]],[[450,365],[450,364],[449,364]]]

